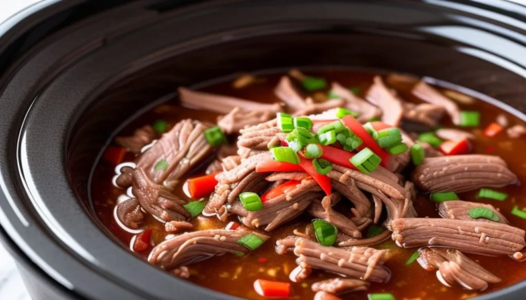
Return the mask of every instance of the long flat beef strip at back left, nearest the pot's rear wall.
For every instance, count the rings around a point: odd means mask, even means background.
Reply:
[[[200,107],[219,113],[229,113],[232,109],[239,107],[245,111],[273,111],[281,110],[277,104],[264,104],[230,96],[209,94],[207,92],[193,91],[187,88],[178,88],[180,101],[186,105]]]

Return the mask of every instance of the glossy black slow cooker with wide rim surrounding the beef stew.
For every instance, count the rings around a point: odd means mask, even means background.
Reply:
[[[86,298],[232,299],[128,253],[87,205],[90,170],[112,132],[178,85],[291,66],[380,68],[526,111],[526,9],[510,2],[77,3],[26,19],[48,25],[40,30],[21,25],[0,39],[10,64],[0,66],[0,223],[13,251]],[[520,299],[524,286],[478,299]]]

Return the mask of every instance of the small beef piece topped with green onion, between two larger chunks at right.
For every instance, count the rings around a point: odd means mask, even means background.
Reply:
[[[446,219],[457,219],[457,220],[474,220],[469,215],[469,210],[473,208],[487,208],[489,210],[492,210],[498,217],[499,217],[499,223],[502,224],[510,224],[504,216],[493,207],[493,205],[490,204],[483,204],[483,203],[476,203],[476,202],[469,202],[469,201],[446,201],[442,202],[438,205],[438,212],[440,213],[440,216],[442,218]],[[484,221],[484,222],[493,222],[491,220],[486,220],[483,218],[477,219],[478,221]]]

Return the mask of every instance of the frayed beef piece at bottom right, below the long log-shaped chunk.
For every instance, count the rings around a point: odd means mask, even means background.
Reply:
[[[501,282],[499,277],[458,250],[426,247],[419,249],[418,253],[420,265],[428,271],[437,270],[439,281],[446,286],[458,283],[469,290],[484,291],[489,283]]]

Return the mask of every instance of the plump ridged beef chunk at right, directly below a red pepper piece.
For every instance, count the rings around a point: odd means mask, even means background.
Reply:
[[[465,192],[517,183],[517,176],[501,158],[475,154],[426,158],[412,178],[426,192]]]

